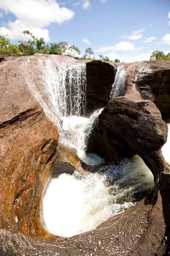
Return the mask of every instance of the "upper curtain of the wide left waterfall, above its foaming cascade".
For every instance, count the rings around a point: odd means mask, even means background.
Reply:
[[[78,63],[69,68],[56,68],[49,59],[43,67],[41,80],[43,84],[37,87],[31,85],[34,96],[42,105],[47,117],[59,128],[62,133],[61,119],[68,115],[81,115],[85,108],[86,65]]]

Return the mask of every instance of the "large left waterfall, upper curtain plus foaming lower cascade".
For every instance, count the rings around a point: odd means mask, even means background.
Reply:
[[[39,58],[39,67],[39,81],[30,74],[26,75],[26,81],[47,117],[57,126],[60,143],[75,148],[79,158],[87,164],[100,164],[104,159],[99,157],[98,161],[92,161],[93,156],[87,156],[85,153],[86,140],[95,118],[102,111],[95,111],[89,118],[84,116],[86,64],[78,63],[71,67],[57,68],[49,58]]]

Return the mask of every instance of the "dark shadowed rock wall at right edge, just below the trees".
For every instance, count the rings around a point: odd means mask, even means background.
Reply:
[[[143,100],[152,100],[164,120],[170,120],[170,64],[168,61],[146,61],[150,72],[138,76],[136,85]]]

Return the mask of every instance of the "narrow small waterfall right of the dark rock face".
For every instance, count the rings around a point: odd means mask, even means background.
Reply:
[[[123,65],[117,67],[116,76],[110,92],[110,99],[124,96],[126,72]]]

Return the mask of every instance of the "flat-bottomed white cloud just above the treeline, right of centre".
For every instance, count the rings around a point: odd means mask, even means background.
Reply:
[[[105,52],[105,51],[111,51],[111,50],[134,51],[135,46],[131,42],[121,41],[118,44],[115,44],[114,46],[102,47],[102,48],[96,50],[96,52]]]

